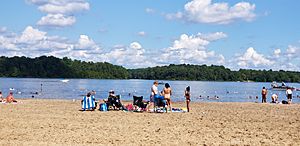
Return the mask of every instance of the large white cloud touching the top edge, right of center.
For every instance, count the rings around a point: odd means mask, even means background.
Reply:
[[[212,0],[192,0],[185,4],[184,12],[167,14],[167,19],[183,19],[195,23],[228,24],[237,20],[251,21],[255,18],[255,4],[239,2],[212,3]]]

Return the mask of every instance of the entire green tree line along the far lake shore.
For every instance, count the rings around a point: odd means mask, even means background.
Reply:
[[[140,69],[126,69],[107,62],[86,62],[53,56],[0,57],[1,77],[96,78],[198,81],[300,82],[300,72],[240,69],[224,66],[170,64]]]

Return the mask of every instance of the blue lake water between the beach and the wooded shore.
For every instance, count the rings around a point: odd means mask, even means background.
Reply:
[[[97,99],[104,99],[108,91],[113,89],[123,100],[132,100],[132,95],[144,96],[149,100],[153,80],[99,80],[99,79],[62,79],[39,78],[0,78],[0,90],[6,97],[11,90],[16,98],[47,98],[47,99],[81,99],[88,91],[95,90]],[[257,82],[208,82],[208,81],[159,81],[169,83],[173,90],[173,101],[185,101],[183,96],[186,86],[191,87],[192,101],[197,102],[255,102],[261,101],[263,86],[270,88],[271,83]],[[288,83],[289,86],[300,88],[299,83]],[[164,85],[159,85],[161,91]],[[268,90],[267,101],[271,95],[278,93],[279,101],[286,100],[285,91]],[[219,99],[215,97],[218,96]],[[258,99],[255,97],[258,96]],[[293,102],[300,103],[299,91],[293,92]]]

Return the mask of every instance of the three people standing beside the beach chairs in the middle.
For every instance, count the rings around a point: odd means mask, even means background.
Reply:
[[[153,103],[154,110],[156,110],[156,107],[159,105],[159,103],[163,103],[165,107],[169,108],[169,110],[172,112],[172,105],[171,105],[171,95],[172,95],[172,89],[169,83],[165,83],[165,86],[161,92],[158,91],[158,81],[154,81],[152,87],[151,87],[151,95],[150,95],[150,103]],[[191,101],[191,92],[190,92],[190,86],[187,86],[184,91],[184,96],[186,98],[186,106],[187,111],[190,111],[190,101]],[[150,105],[151,106],[151,105]],[[166,109],[166,112],[168,110]]]

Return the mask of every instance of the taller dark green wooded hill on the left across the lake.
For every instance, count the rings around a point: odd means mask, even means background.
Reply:
[[[128,71],[109,63],[92,63],[53,56],[0,57],[1,77],[127,79]]]

